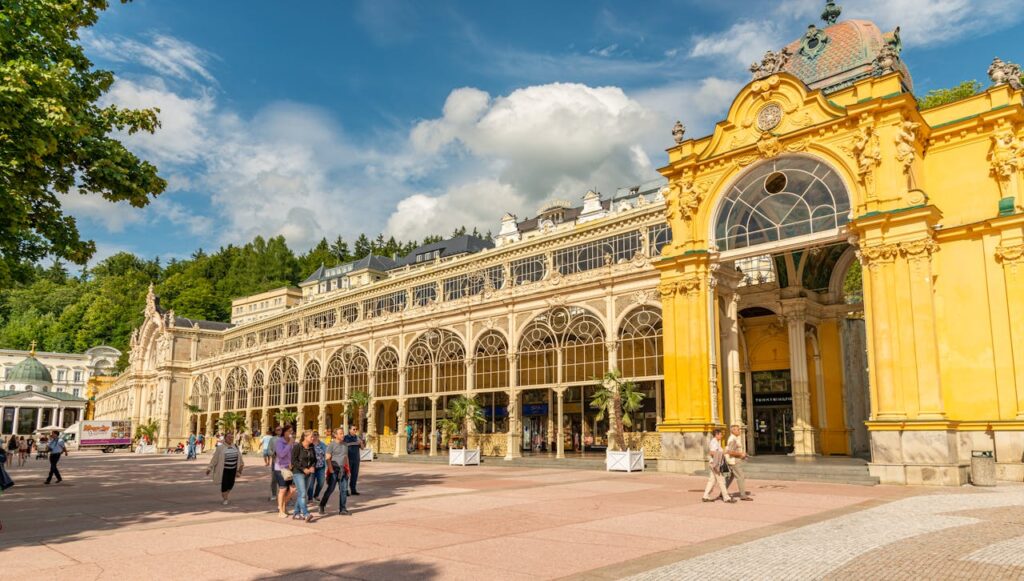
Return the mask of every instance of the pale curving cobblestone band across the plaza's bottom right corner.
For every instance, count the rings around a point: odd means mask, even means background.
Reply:
[[[982,522],[976,517],[948,513],[1021,504],[1024,504],[1024,488],[907,498],[723,548],[630,579],[820,579],[874,549],[920,535]],[[726,545],[728,539],[722,539],[722,543]],[[997,550],[992,557],[1001,559],[1004,554]],[[959,556],[967,558],[969,554]]]

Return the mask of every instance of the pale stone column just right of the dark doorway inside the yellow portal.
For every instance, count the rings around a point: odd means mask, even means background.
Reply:
[[[793,452],[797,456],[817,454],[811,423],[811,391],[807,370],[807,303],[804,299],[782,302],[790,338],[790,378],[793,386]]]

